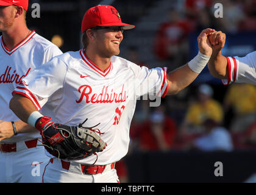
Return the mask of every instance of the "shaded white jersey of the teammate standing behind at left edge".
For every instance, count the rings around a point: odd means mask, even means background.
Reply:
[[[36,34],[34,30],[11,51],[5,46],[2,36],[0,41],[0,119],[18,121],[20,119],[9,108],[12,91],[32,69],[62,52],[50,41]],[[19,133],[1,143],[33,140],[33,138],[40,138],[39,132]]]

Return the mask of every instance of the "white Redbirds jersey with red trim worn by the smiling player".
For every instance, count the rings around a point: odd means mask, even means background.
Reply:
[[[94,65],[84,50],[66,52],[38,67],[13,93],[24,94],[53,122],[95,127],[107,143],[95,165],[106,165],[127,154],[129,128],[136,100],[150,93],[165,96],[167,68],[148,69],[113,56],[105,71]],[[96,155],[77,162],[93,164]]]

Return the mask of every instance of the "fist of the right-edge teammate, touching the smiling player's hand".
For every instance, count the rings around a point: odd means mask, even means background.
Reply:
[[[213,51],[220,51],[224,48],[226,34],[221,31],[216,31],[213,34],[208,35],[208,40],[212,44]]]

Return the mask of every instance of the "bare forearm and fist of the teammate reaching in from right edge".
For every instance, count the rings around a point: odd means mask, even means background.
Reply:
[[[218,79],[228,79],[227,59],[221,54],[221,49],[224,48],[225,45],[226,34],[217,31],[209,35],[208,40],[213,48],[212,56],[208,62],[210,73]]]

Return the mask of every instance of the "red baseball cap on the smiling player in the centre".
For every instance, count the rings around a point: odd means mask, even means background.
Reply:
[[[118,11],[111,5],[97,5],[85,12],[82,21],[82,33],[95,26],[123,26],[124,30],[135,27],[131,24],[122,23]]]

